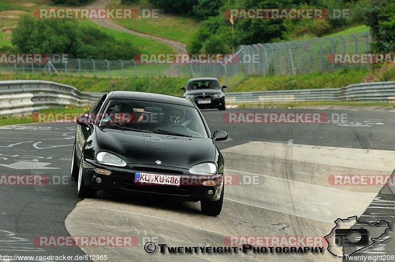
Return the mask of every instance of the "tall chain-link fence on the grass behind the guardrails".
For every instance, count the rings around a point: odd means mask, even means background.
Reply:
[[[235,75],[303,75],[328,72],[349,65],[331,64],[331,53],[366,53],[370,36],[357,34],[308,40],[241,45],[238,62],[229,64],[137,64],[125,60],[67,59],[62,63],[2,64],[1,74],[44,73],[96,77],[224,77]],[[257,58],[251,60],[251,57]],[[368,65],[357,65],[368,66]]]

